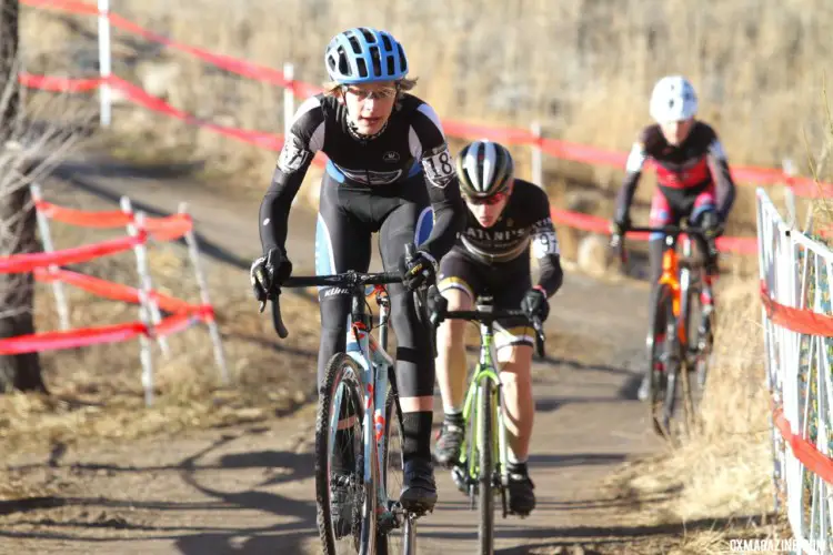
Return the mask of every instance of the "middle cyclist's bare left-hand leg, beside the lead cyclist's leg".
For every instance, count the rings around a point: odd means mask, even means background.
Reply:
[[[440,263],[436,285],[452,311],[471,310],[480,275],[488,266],[476,264],[452,249]],[[451,466],[460,458],[465,435],[463,402],[465,396],[465,326],[463,320],[445,320],[436,331],[436,382],[443,405],[443,426],[436,440],[436,461]]]

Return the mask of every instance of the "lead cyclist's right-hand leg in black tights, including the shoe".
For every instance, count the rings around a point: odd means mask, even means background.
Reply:
[[[430,213],[428,193],[421,174],[390,190],[400,193],[398,206],[382,214],[379,245],[388,271],[399,269],[407,243],[416,242],[418,222]],[[429,211],[429,212],[425,212]],[[431,463],[431,425],[433,422],[434,360],[429,330],[416,314],[413,295],[401,284],[388,287],[391,299],[391,323],[397,332],[397,384],[402,406],[405,480],[401,503],[409,511],[428,511],[436,502],[436,486]]]

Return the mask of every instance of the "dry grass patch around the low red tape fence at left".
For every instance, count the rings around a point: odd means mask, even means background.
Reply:
[[[89,201],[86,202],[89,204]],[[57,248],[100,241],[99,231],[54,224]],[[155,245],[149,250],[154,287],[198,303],[199,294],[184,248]],[[138,284],[132,253],[84,264],[84,273],[126,284]],[[265,420],[305,402],[312,389],[318,351],[318,313],[313,302],[282,296],[287,321],[292,321],[293,350],[275,346],[271,321],[252,310],[244,271],[209,264],[209,286],[223,335],[223,347],[234,384],[221,386],[211,343],[199,325],[169,337],[170,359],[154,346],[155,404],[145,408],[140,383],[139,343],[96,345],[44,352],[42,365],[51,396],[16,394],[0,397],[0,443],[3,450],[40,451],[57,443],[130,440],[148,434],[172,434],[185,428],[222,426]],[[235,285],[237,284],[237,285]],[[66,289],[71,327],[138,319],[138,307]],[[58,329],[49,285],[38,285],[37,326]],[[305,317],[299,317],[303,314]],[[291,319],[291,320],[290,320]]]

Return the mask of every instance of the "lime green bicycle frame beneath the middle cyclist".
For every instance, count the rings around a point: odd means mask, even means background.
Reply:
[[[474,374],[471,383],[469,384],[469,391],[465,394],[465,403],[463,405],[463,420],[471,423],[472,430],[470,434],[466,434],[466,438],[463,441],[463,447],[461,448],[461,462],[466,465],[466,476],[470,480],[476,480],[480,468],[478,465],[476,457],[472,456],[472,460],[468,458],[468,446],[469,442],[475,442],[478,450],[491,448],[493,453],[498,455],[501,485],[506,486],[509,484],[509,471],[506,470],[508,464],[508,441],[506,441],[506,427],[503,423],[503,417],[494,418],[494,423],[498,426],[496,445],[481,445],[480,444],[480,418],[471,418],[471,413],[479,406],[478,401],[481,394],[481,384],[485,380],[491,380],[494,383],[494,390],[498,394],[498,414],[503,414],[503,383],[501,382],[500,372],[495,370],[494,361],[498,360],[496,351],[494,347],[494,332],[492,323],[480,323],[480,361],[474,367]]]

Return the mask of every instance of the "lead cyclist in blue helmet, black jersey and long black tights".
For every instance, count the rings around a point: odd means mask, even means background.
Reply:
[[[267,269],[270,280],[280,283],[291,273],[285,249],[289,210],[312,158],[323,152],[329,161],[321,183],[317,273],[368,271],[371,235],[379,233],[385,270],[400,269],[408,275],[404,285],[389,286],[404,413],[405,472],[400,501],[408,511],[430,511],[436,502],[430,451],[434,361],[431,337],[418,319],[410,292],[433,283],[438,261],[462,225],[456,172],[436,113],[407,92],[415,81],[405,78],[408,60],[391,34],[350,29],[332,39],[324,60],[331,83],[327,92],[299,107],[263,198],[260,238],[264,255],[254,261],[252,275],[267,264],[270,252],[280,261]],[[418,245],[411,259],[404,254],[407,243]],[[259,299],[271,286],[254,278],[252,284]],[[320,385],[328,361],[345,349],[350,296],[344,290],[322,287],[319,302]],[[337,442],[351,443],[338,434]],[[342,468],[349,468],[354,454],[347,446],[344,451]]]

